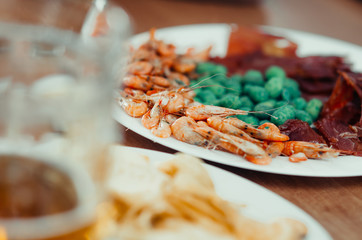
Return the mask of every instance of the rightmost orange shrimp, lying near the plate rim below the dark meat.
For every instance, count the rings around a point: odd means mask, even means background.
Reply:
[[[333,158],[339,155],[339,151],[325,147],[323,144],[302,142],[302,141],[288,141],[284,143],[283,154],[291,156],[296,153],[304,153],[307,158]]]

